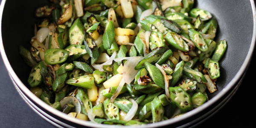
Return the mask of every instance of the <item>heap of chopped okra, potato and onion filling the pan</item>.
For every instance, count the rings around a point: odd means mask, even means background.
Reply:
[[[51,0],[20,54],[28,84],[71,117],[143,125],[197,108],[217,91],[227,42],[194,0]]]

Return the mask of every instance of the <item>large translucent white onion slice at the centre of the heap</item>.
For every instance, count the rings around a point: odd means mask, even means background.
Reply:
[[[123,79],[125,79],[125,83],[130,84],[139,70],[135,70],[135,66],[142,60],[144,57],[132,57],[125,62],[123,67]]]

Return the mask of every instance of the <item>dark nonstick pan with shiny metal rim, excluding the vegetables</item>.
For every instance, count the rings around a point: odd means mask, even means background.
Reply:
[[[155,128],[169,125],[185,127],[201,122],[209,117],[237,90],[239,82],[250,63],[256,39],[256,11],[253,0],[196,0],[196,6],[211,12],[218,20],[218,33],[215,40],[226,39],[227,52],[220,61],[221,78],[218,91],[209,94],[209,101],[187,112],[181,117],[154,124],[136,126]],[[41,117],[58,127],[108,127],[102,124],[81,121],[50,107],[27,88],[30,68],[19,55],[18,46],[29,47],[34,36],[36,8],[46,5],[48,0],[2,0],[0,6],[0,52],[13,83],[21,97]],[[111,125],[114,128],[123,126]],[[134,126],[132,126],[134,128]]]

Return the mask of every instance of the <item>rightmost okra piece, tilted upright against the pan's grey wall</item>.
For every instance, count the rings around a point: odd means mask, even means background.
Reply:
[[[224,55],[225,51],[227,50],[227,42],[226,40],[219,41],[217,48],[212,55],[212,60],[219,61],[221,60],[221,57]]]

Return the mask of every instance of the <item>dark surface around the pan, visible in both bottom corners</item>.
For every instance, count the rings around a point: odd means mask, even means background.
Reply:
[[[0,0],[1,2],[1,0]],[[230,43],[230,45],[232,45]],[[233,98],[197,128],[256,127],[256,51],[247,74]],[[23,101],[12,84],[0,57],[0,128],[54,128]],[[254,121],[254,122],[253,122]]]

